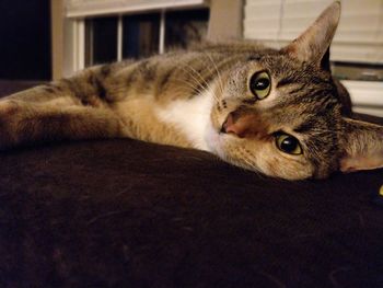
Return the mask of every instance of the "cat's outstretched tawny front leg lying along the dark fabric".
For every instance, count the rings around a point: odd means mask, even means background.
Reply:
[[[0,150],[59,140],[111,138],[124,125],[108,108],[0,101]]]

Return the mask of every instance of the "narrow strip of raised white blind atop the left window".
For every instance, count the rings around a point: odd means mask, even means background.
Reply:
[[[84,18],[204,5],[206,0],[66,0],[66,16]]]

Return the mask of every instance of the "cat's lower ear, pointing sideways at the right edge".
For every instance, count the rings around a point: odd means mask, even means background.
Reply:
[[[383,126],[344,118],[343,172],[383,168]]]

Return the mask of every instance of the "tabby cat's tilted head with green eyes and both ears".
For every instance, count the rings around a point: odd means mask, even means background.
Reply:
[[[339,14],[335,2],[287,47],[255,54],[221,76],[211,150],[288,180],[383,166],[383,127],[345,116],[341,89],[329,71]]]

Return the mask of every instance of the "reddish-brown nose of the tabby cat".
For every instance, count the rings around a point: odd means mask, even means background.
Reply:
[[[254,134],[254,114],[248,113],[237,115],[235,112],[231,112],[222,124],[221,133],[233,134],[240,138],[245,138],[246,136]]]

